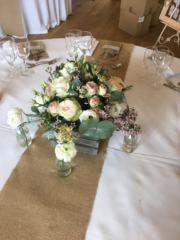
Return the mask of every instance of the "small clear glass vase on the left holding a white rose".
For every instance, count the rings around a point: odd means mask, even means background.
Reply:
[[[29,129],[27,127],[19,127],[16,131],[16,139],[18,144],[26,148],[31,145],[32,139],[29,133]]]

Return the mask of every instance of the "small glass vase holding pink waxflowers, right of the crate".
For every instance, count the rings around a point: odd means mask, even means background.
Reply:
[[[134,149],[137,147],[138,136],[132,135],[124,135],[124,141],[122,145],[122,149],[127,152],[133,152]]]

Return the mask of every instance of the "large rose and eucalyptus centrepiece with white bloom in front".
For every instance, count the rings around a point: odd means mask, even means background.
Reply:
[[[98,71],[86,58],[77,61],[77,57],[76,53],[75,61],[46,70],[50,77],[48,83],[42,82],[42,92],[31,90],[33,114],[24,113],[28,124],[45,128],[42,137],[57,139],[55,153],[64,161],[76,154],[73,140],[79,134],[73,133],[75,128],[100,139],[111,137],[114,130],[125,133],[128,126],[132,134],[140,133],[140,126],[132,123],[135,110],[127,108],[122,113],[122,104],[127,105],[125,92],[132,86],[125,87],[120,78],[109,76],[108,69]],[[115,124],[116,118],[124,123]]]

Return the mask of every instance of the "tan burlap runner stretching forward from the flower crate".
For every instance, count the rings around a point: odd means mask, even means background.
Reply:
[[[114,70],[115,76],[123,78],[121,70]],[[56,173],[54,148],[41,134],[39,129],[0,192],[0,239],[82,240],[108,139],[97,156],[78,153],[71,175],[63,179]]]

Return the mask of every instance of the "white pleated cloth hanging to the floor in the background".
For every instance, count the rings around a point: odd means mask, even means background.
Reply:
[[[24,35],[47,33],[72,14],[72,0],[19,0]],[[0,38],[4,37],[0,23]]]

